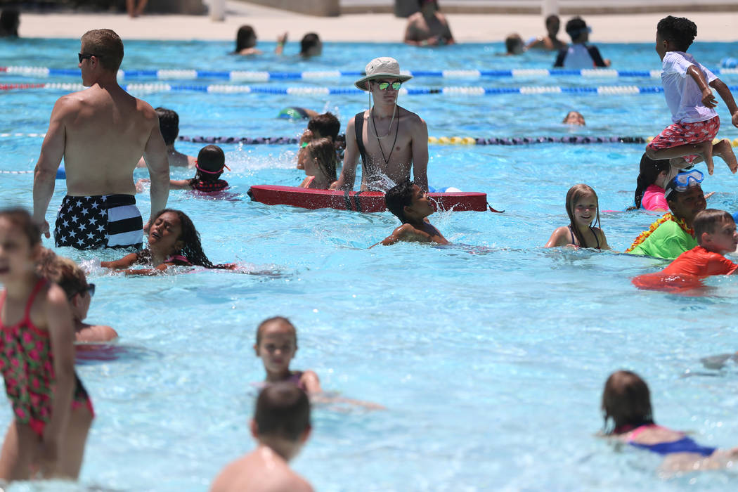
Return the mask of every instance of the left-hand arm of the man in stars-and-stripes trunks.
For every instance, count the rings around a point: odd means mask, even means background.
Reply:
[[[74,103],[67,97],[60,97],[54,105],[49,119],[49,129],[46,130],[44,143],[41,144],[41,154],[33,173],[33,221],[41,227],[46,238],[49,234],[49,223],[46,222],[46,209],[54,195],[56,172],[64,156],[66,142],[66,128],[64,118],[74,109]]]

